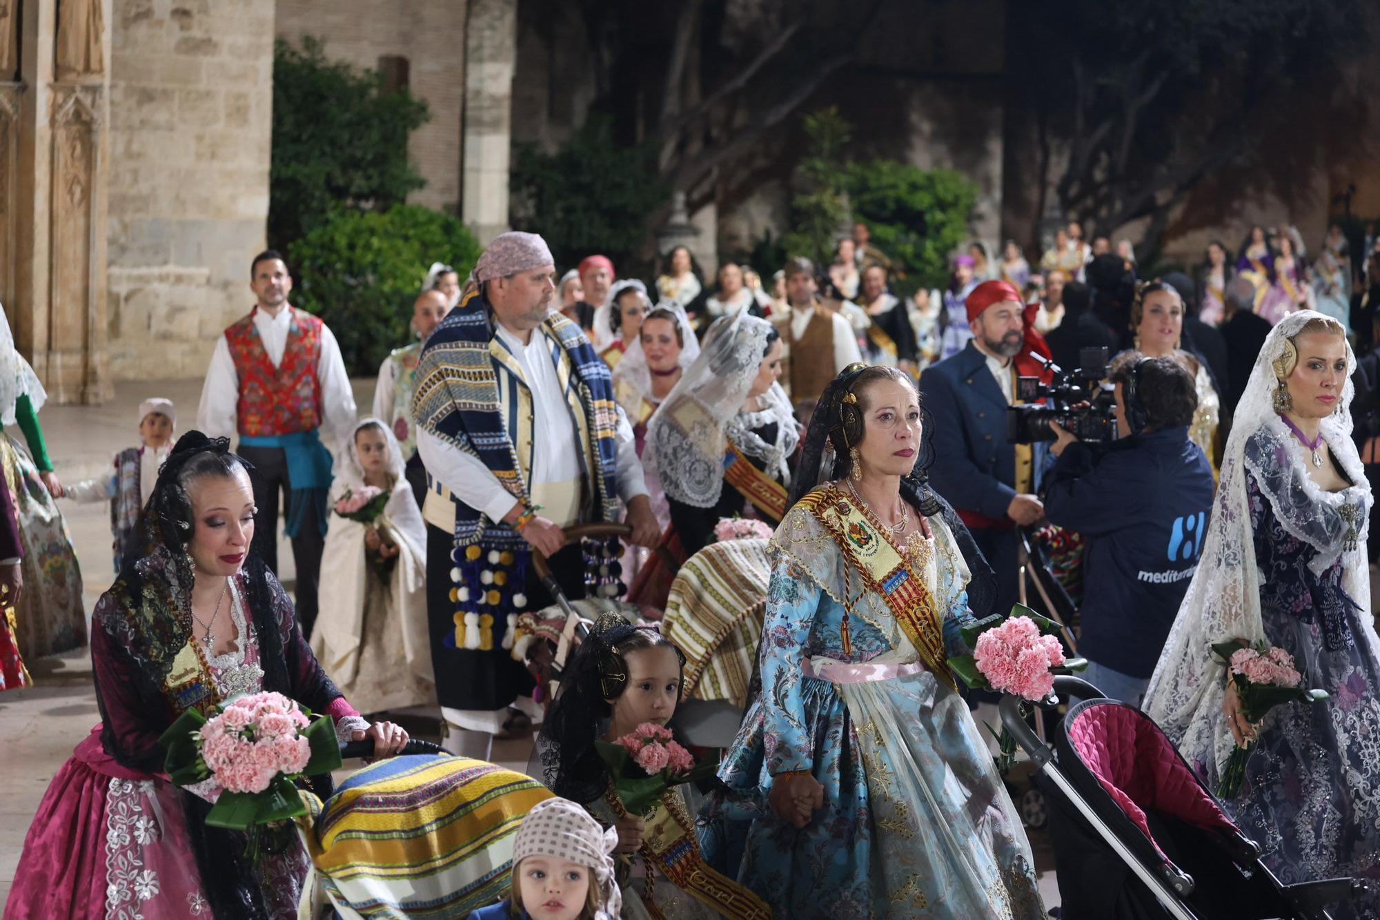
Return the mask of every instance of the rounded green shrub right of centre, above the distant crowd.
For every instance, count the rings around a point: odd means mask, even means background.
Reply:
[[[850,163],[845,175],[853,218],[891,257],[901,294],[948,283],[948,258],[969,236],[977,186],[954,170],[922,170],[896,160]]]

